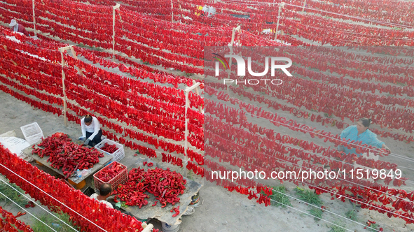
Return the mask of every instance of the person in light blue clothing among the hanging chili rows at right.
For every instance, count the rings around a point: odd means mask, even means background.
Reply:
[[[347,129],[343,130],[342,133],[340,133],[340,138],[345,138],[345,140],[350,139],[350,141],[355,140],[355,143],[359,143],[359,141],[361,141],[362,145],[366,144],[373,147],[385,148],[385,150],[391,152],[385,143],[378,140],[377,135],[368,129],[368,127],[371,125],[371,122],[371,119],[359,119],[356,126],[348,126]],[[338,150],[340,152],[345,152],[345,154],[357,154],[358,157],[362,155],[360,153],[357,153],[355,148],[348,149],[343,145],[340,145],[338,147]]]

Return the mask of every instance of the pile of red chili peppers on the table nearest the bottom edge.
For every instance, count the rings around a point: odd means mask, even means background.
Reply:
[[[167,170],[155,168],[148,171],[133,168],[128,175],[128,182],[119,184],[113,194],[116,195],[116,200],[118,198],[120,201],[125,201],[126,205],[137,205],[142,208],[143,205],[148,204],[145,198],[149,198],[149,195],[144,194],[147,191],[156,196],[161,207],[164,208],[167,203],[174,205],[180,201],[178,196],[184,194],[185,184],[186,180],[183,176],[170,171],[170,168]]]

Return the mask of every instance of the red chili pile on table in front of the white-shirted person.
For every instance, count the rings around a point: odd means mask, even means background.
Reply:
[[[99,163],[99,157],[104,157],[104,154],[95,148],[72,143],[64,133],[55,133],[53,136],[43,138],[38,146],[39,148],[32,150],[32,154],[37,154],[41,158],[48,156],[48,161],[52,163],[50,166],[56,169],[62,168],[63,175],[67,178],[77,169],[92,168],[94,164]]]

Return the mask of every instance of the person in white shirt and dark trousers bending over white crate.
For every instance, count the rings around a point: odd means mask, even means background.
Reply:
[[[102,130],[96,117],[86,115],[81,119],[81,127],[82,137],[79,139],[84,141],[84,145],[93,147],[94,145],[101,143]]]

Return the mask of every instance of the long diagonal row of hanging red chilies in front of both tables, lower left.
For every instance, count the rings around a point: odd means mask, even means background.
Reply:
[[[8,180],[51,210],[57,211],[60,208],[62,212],[70,215],[74,225],[81,227],[82,231],[99,231],[97,226],[105,231],[142,231],[141,222],[123,215],[118,210],[107,208],[79,190],[72,189],[64,182],[18,158],[1,145],[0,161],[17,174],[1,167],[0,172],[6,175]],[[29,183],[36,183],[36,187]]]

